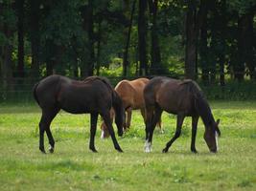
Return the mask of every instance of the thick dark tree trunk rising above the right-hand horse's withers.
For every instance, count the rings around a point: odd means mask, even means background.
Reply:
[[[194,1],[189,1],[186,14],[185,76],[190,79],[196,78],[197,40],[197,8]]]

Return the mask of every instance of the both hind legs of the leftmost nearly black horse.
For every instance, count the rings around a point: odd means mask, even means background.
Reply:
[[[50,148],[49,151],[50,153],[54,152],[55,148],[55,140],[53,138],[52,132],[50,130],[50,124],[53,120],[54,117],[58,114],[59,109],[54,109],[54,110],[43,110],[42,111],[42,116],[39,122],[39,149],[42,153],[45,153],[44,149],[44,132],[46,132],[46,135],[49,140]]]

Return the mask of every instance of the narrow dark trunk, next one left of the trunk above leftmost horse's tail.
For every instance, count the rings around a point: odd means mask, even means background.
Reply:
[[[17,30],[18,30],[18,65],[17,75],[24,77],[24,0],[17,3]]]

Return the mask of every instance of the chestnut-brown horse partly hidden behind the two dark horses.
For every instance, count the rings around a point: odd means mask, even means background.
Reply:
[[[130,120],[132,110],[140,110],[141,115],[146,122],[146,111],[145,111],[145,101],[143,96],[143,90],[145,86],[149,83],[150,79],[148,78],[137,78],[134,80],[122,80],[120,81],[116,87],[115,91],[121,97],[123,101],[124,108],[127,112],[126,118],[127,121],[124,123],[124,129],[128,130],[130,127]],[[114,116],[114,111],[110,111],[111,119]],[[161,122],[158,122],[158,126],[161,129]],[[103,131],[102,138],[107,138],[109,136],[107,132],[107,128],[105,127],[105,123],[102,123],[101,129]]]

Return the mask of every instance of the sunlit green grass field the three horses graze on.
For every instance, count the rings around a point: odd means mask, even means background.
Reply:
[[[221,118],[218,154],[209,153],[201,121],[198,154],[190,152],[191,118],[169,153],[162,154],[175,132],[175,117],[166,113],[164,134],[156,129],[153,151],[144,153],[138,112],[133,113],[129,132],[118,138],[125,153],[117,153],[110,139],[101,139],[98,128],[95,154],[88,149],[89,116],[61,112],[52,123],[56,151],[42,155],[38,107],[2,104],[0,190],[256,190],[256,102],[219,101],[211,106]]]

